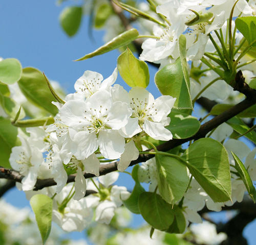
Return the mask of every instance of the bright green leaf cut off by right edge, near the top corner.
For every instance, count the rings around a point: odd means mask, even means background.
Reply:
[[[235,21],[237,29],[243,34],[248,43],[252,43],[256,39],[256,17],[246,16],[239,17]],[[253,44],[256,46],[256,43]]]

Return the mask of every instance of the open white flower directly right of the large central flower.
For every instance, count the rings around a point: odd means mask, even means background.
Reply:
[[[169,125],[170,118],[167,115],[174,106],[175,98],[162,95],[155,100],[150,92],[140,87],[132,88],[129,97],[133,113],[121,129],[124,135],[132,137],[143,130],[154,139],[173,138],[172,133],[164,127]]]

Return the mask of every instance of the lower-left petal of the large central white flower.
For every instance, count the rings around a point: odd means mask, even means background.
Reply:
[[[95,133],[80,131],[74,136],[73,141],[77,146],[74,145],[71,152],[78,160],[88,158],[98,149],[98,139]]]

